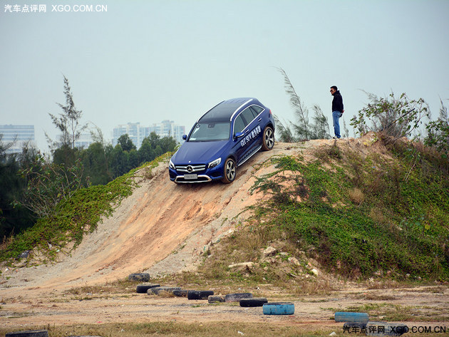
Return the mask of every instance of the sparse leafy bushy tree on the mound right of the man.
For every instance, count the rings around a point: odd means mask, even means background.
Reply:
[[[396,98],[391,93],[386,98],[378,98],[366,93],[371,103],[351,118],[350,125],[361,135],[368,131],[381,132],[397,140],[408,137],[418,130],[423,118],[430,119],[430,110],[423,98],[410,100],[406,93]]]

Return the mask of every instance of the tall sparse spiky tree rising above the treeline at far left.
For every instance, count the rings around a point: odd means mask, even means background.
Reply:
[[[58,128],[62,133],[61,142],[54,142],[48,137],[47,133],[46,138],[51,148],[58,147],[58,145],[68,145],[68,147],[74,149],[76,140],[80,138],[83,130],[87,128],[87,124],[80,124],[81,115],[83,112],[81,110],[77,110],[75,107],[73,94],[71,93],[71,88],[70,85],[68,85],[68,79],[66,76],[64,76],[64,95],[66,95],[66,105],[56,103],[63,110],[63,113],[60,113],[58,117],[48,113],[51,117],[52,123],[56,125],[56,128]]]

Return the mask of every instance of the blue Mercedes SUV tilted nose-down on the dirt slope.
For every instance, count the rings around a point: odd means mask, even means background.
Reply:
[[[272,111],[256,98],[234,98],[215,105],[197,120],[170,159],[176,183],[234,181],[237,167],[260,149],[274,146]]]

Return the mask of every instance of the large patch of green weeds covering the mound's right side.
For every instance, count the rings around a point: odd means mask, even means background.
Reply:
[[[406,274],[448,279],[449,178],[422,181],[418,167],[408,170],[401,158],[345,157],[326,167],[291,156],[273,159],[278,171],[254,184],[271,201],[255,214],[271,216],[269,224],[328,271],[351,278],[383,270],[398,280]],[[289,183],[276,180],[283,170],[292,171]],[[282,186],[299,181],[307,194],[295,202],[297,190]]]

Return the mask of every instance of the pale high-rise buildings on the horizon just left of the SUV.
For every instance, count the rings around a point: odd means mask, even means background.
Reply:
[[[182,135],[185,134],[185,126],[177,125],[172,120],[162,120],[161,123],[155,123],[152,126],[142,126],[140,123],[128,123],[117,125],[113,130],[113,146],[117,145],[118,138],[128,133],[130,140],[139,148],[142,145],[143,138],[148,137],[150,133],[156,133],[160,138],[172,137],[177,142],[182,142]]]

